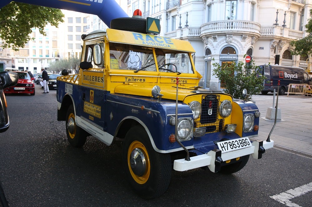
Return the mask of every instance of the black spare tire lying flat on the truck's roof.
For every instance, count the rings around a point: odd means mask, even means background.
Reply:
[[[146,19],[130,17],[117,18],[110,21],[110,28],[115,30],[146,33]]]

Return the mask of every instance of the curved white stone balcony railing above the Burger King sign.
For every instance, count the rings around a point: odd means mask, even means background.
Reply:
[[[244,20],[212,21],[201,25],[201,34],[213,32],[254,32],[260,33],[260,24]]]

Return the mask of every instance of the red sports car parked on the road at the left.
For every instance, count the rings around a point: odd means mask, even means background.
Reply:
[[[35,85],[27,72],[15,71],[18,74],[18,82],[15,86],[4,89],[5,94],[31,94],[35,95]]]

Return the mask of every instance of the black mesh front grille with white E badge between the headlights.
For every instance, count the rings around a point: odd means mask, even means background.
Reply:
[[[224,119],[218,119],[220,95],[202,95],[202,114],[194,127],[206,127],[206,133],[222,131]]]

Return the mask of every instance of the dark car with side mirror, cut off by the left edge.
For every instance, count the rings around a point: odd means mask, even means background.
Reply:
[[[17,84],[18,74],[4,71],[0,73],[0,132],[7,131],[9,128],[9,116],[7,114],[7,101],[3,90]],[[1,191],[2,192],[2,191]]]

